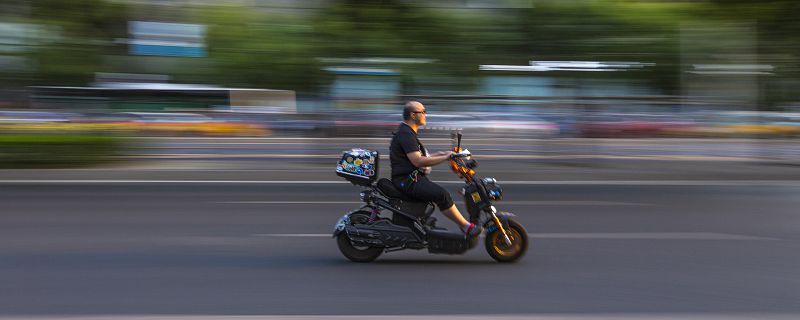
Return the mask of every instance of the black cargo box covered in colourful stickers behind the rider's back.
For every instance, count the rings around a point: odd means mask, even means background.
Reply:
[[[378,151],[351,149],[342,153],[336,164],[336,175],[359,186],[370,186],[378,180]]]

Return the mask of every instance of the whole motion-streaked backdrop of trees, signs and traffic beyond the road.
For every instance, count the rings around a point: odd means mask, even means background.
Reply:
[[[794,1],[2,4],[3,131],[789,138]],[[376,133],[377,132],[377,133]]]

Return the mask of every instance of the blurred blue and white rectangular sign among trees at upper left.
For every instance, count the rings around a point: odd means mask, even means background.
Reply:
[[[205,57],[206,26],[200,24],[130,21],[133,55]]]

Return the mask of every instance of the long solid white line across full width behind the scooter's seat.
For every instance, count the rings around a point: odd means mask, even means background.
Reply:
[[[463,184],[463,181],[436,181],[442,184]],[[132,180],[132,179],[7,179],[3,183],[64,184],[350,184],[344,180]],[[501,185],[621,185],[621,186],[800,186],[800,180],[501,180]]]

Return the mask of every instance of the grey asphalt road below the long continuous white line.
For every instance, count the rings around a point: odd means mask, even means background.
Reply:
[[[800,314],[798,184],[505,194],[533,240],[519,263],[355,264],[327,236],[348,184],[0,182],[0,316]]]

